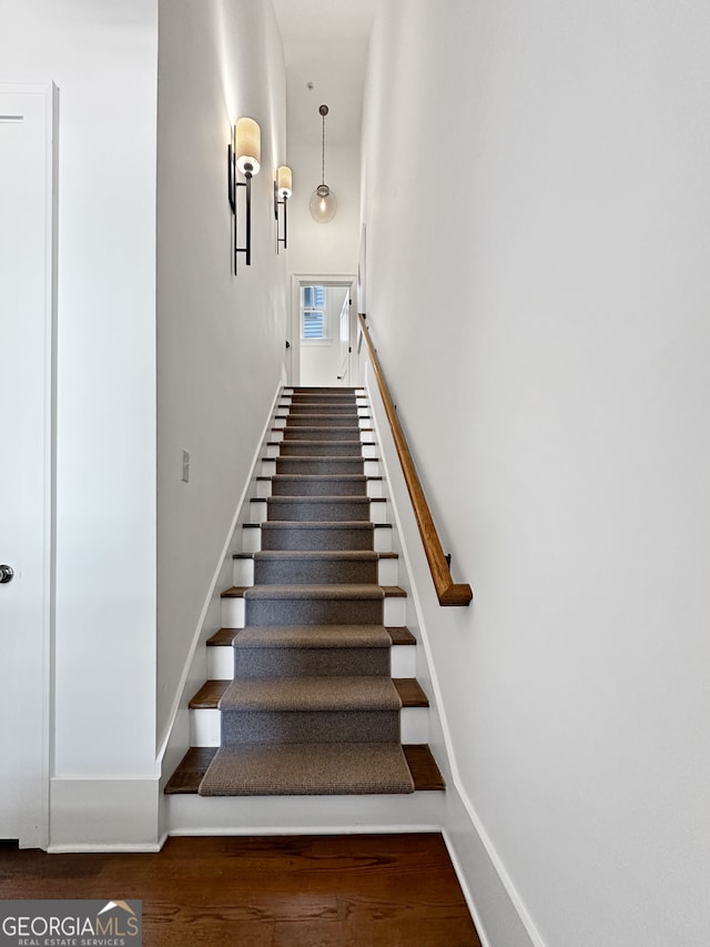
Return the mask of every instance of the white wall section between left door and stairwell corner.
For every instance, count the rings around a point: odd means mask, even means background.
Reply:
[[[59,87],[59,844],[64,783],[154,776],[156,41],[152,0],[0,0],[1,79]]]

